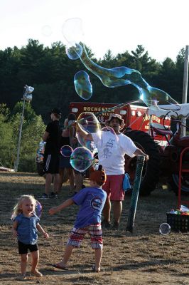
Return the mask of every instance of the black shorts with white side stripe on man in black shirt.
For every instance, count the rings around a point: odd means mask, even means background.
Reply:
[[[44,155],[43,159],[45,173],[55,174],[59,172],[59,155]]]

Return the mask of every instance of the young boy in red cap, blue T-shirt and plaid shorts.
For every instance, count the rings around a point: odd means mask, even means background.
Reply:
[[[91,247],[95,249],[95,264],[92,266],[92,270],[95,272],[100,271],[102,259],[101,214],[107,198],[106,192],[101,187],[106,179],[102,166],[99,166],[99,170],[91,170],[90,187],[80,190],[74,197],[49,210],[50,214],[55,214],[72,204],[80,205],[80,211],[77,214],[74,227],[65,247],[63,260],[58,264],[52,264],[53,267],[68,270],[67,263],[72,255],[72,250],[74,247],[80,247],[82,239],[88,232],[91,238]]]

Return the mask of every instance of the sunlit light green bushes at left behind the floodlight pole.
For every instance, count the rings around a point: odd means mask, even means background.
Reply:
[[[5,167],[14,167],[22,109],[23,102],[18,102],[10,115],[9,108],[5,104],[0,105],[0,162]],[[41,115],[36,115],[31,104],[26,103],[18,171],[36,171],[36,150],[44,132],[45,125]]]

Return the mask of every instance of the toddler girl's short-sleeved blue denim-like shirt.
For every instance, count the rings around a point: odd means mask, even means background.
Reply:
[[[13,219],[18,223],[18,241],[23,244],[36,244],[38,240],[38,229],[36,225],[40,221],[36,214],[32,217],[25,217],[23,214],[18,214],[18,216]]]

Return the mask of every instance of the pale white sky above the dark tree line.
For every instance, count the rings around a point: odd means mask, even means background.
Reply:
[[[0,0],[0,50],[26,46],[29,38],[66,44],[63,24],[79,18],[96,58],[140,44],[159,62],[175,61],[189,45],[188,11],[188,0]]]

